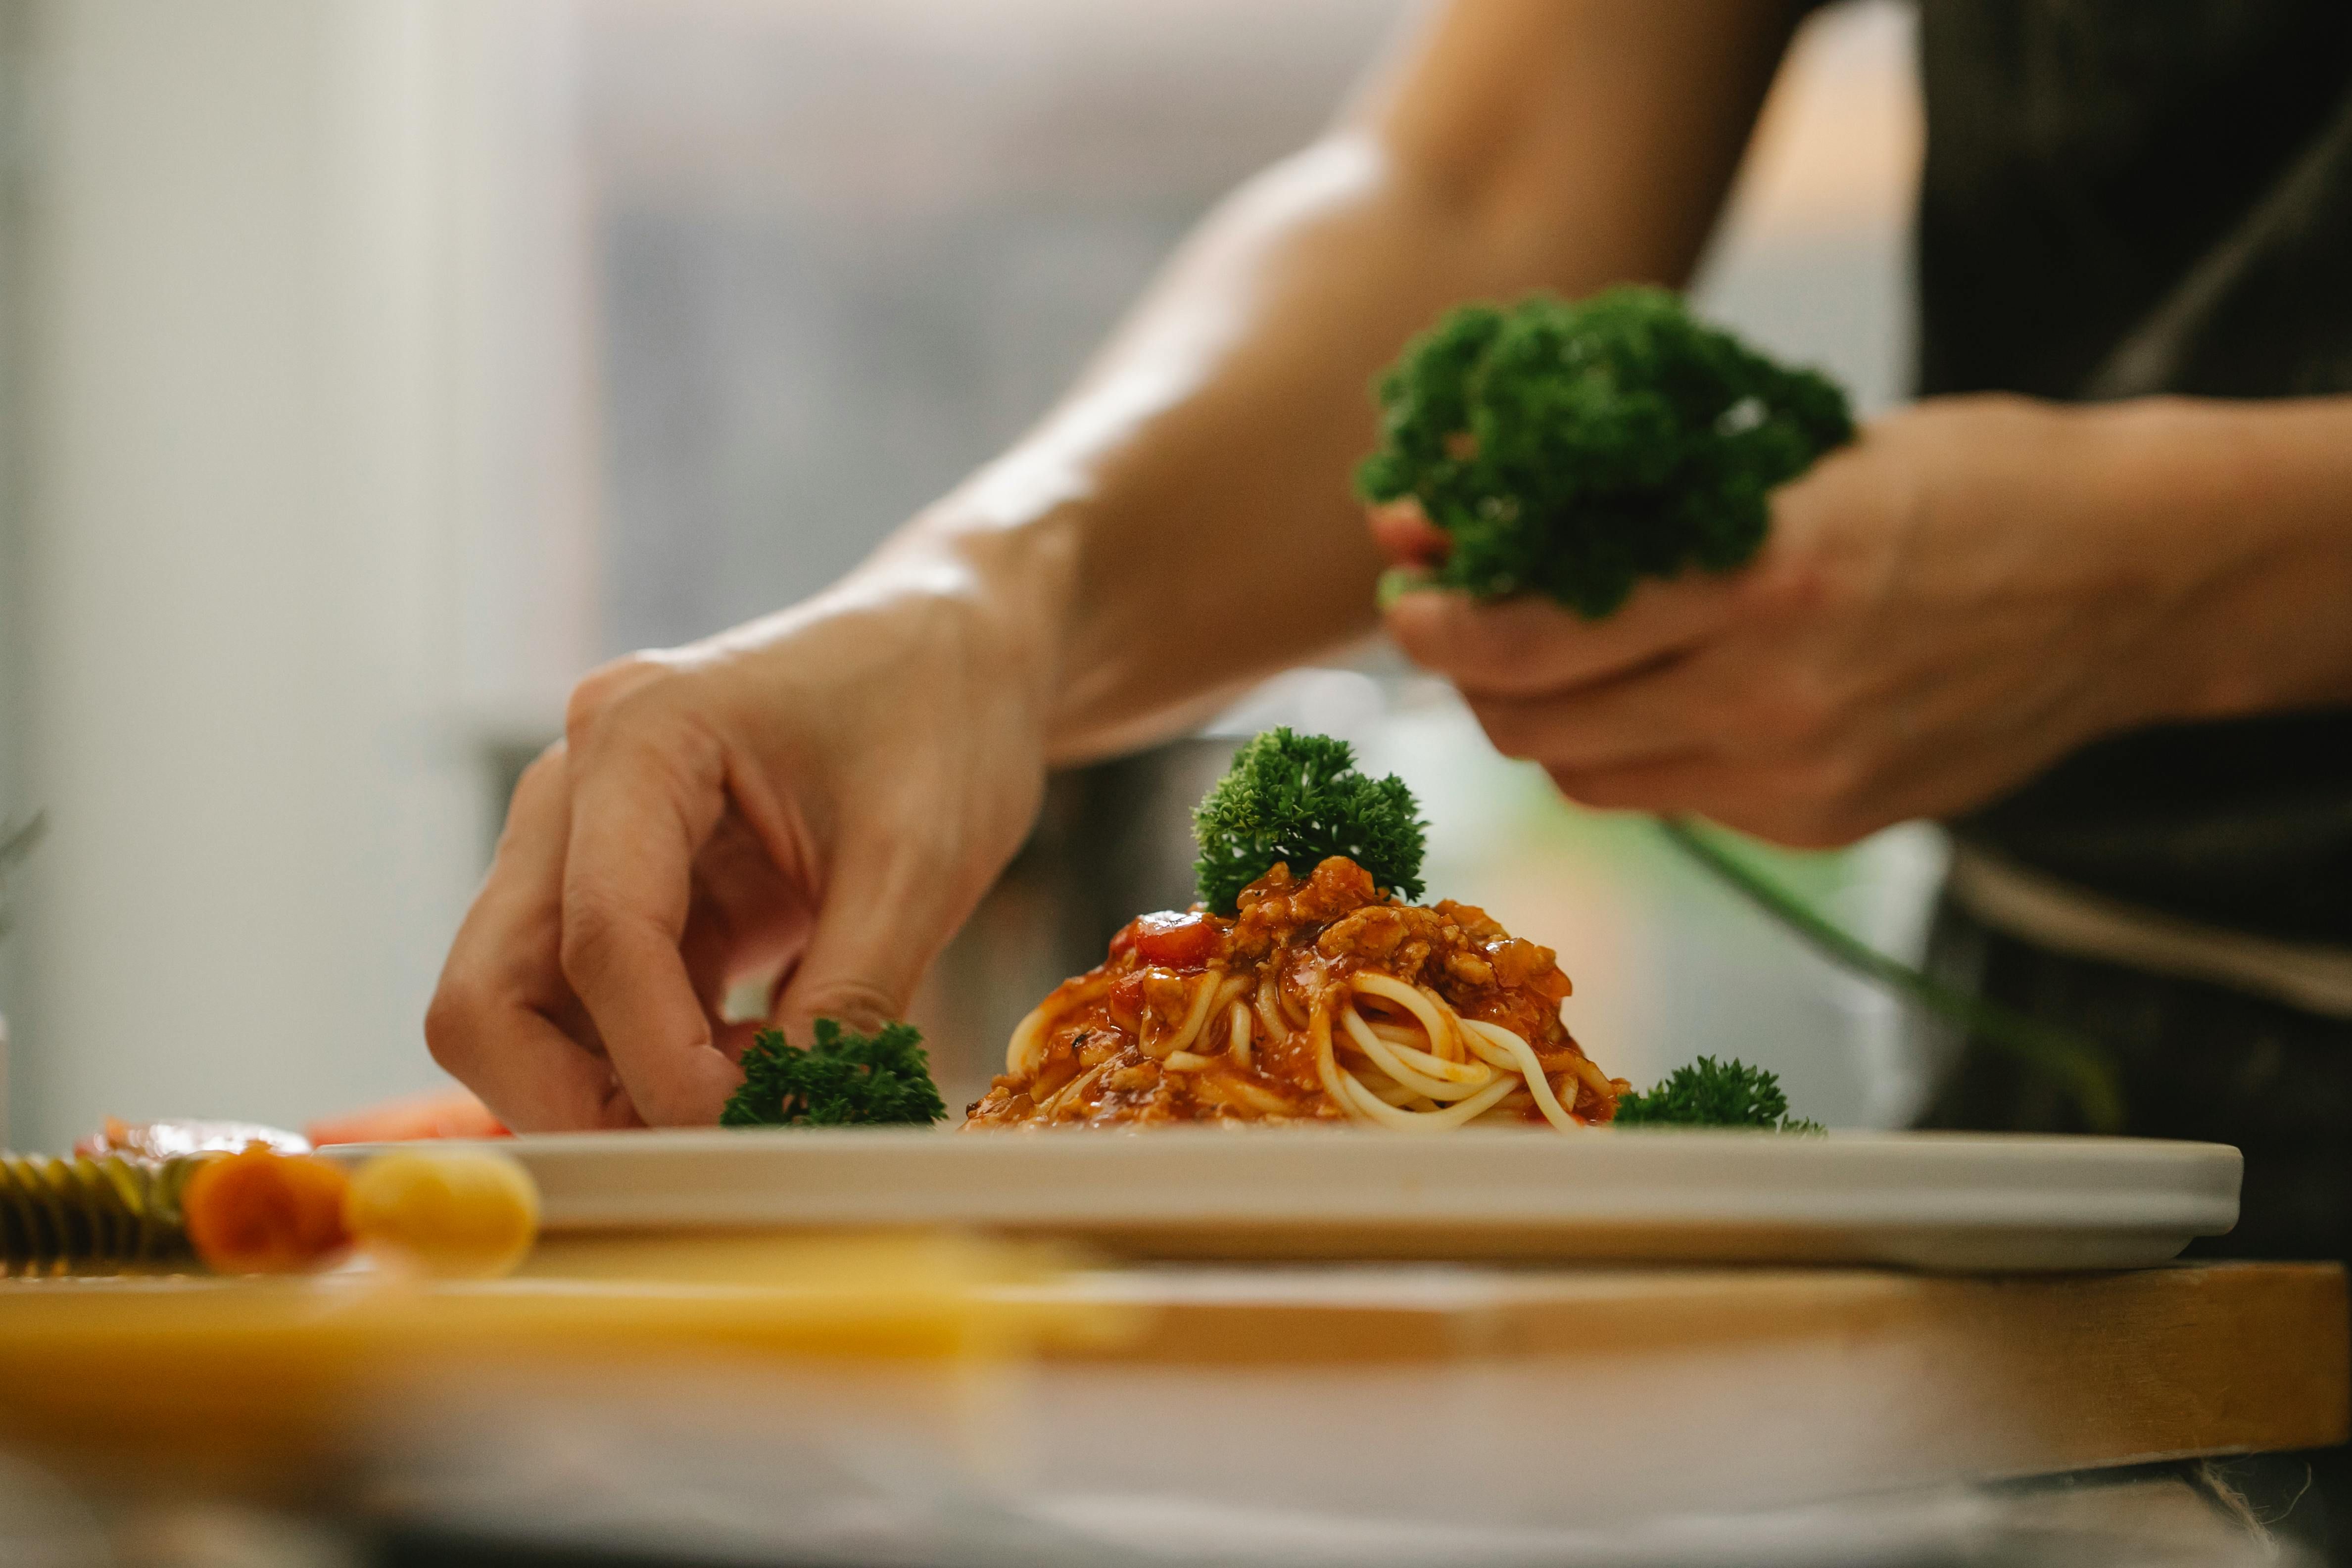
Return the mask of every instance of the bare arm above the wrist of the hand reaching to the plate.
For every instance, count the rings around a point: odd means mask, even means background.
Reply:
[[[1378,559],[1348,475],[1376,369],[1461,299],[1679,282],[1792,19],[1454,7],[1228,200],[1077,390],[875,569],[953,559],[1037,639],[1016,663],[1058,757],[1369,630]]]

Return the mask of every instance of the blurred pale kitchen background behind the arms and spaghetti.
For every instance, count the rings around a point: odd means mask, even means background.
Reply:
[[[572,679],[807,595],[1023,430],[1406,12],[0,0],[0,823],[49,820],[0,938],[16,1147],[437,1081],[419,1018]],[[1912,28],[1806,26],[1700,282],[1867,409],[1907,378]],[[1214,729],[1263,722],[1402,771],[1432,891],[1559,947],[1611,1070],[1912,1105],[1884,999],[1392,656]],[[920,1006],[950,1103],[1181,900],[1221,745],[1056,783]],[[1940,842],[1769,863],[1910,952]]]

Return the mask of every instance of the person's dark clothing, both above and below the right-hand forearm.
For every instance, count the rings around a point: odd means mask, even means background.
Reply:
[[[1922,75],[1924,395],[2352,393],[2352,0],[1922,0]],[[1952,830],[2164,914],[2352,945],[2352,710],[2117,736]],[[2244,1150],[2239,1227],[2194,1253],[2352,1258],[2352,1020],[1950,903],[1931,966],[2105,1044],[2129,1131]],[[1983,1041],[1926,1124],[2079,1131]],[[2246,1479],[2272,1507],[2310,1481],[2286,1530],[2352,1563],[2352,1453]]]

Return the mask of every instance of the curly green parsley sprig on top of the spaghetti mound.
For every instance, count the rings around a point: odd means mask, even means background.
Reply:
[[[1348,856],[1374,886],[1414,900],[1425,827],[1404,780],[1359,773],[1345,741],[1270,729],[1235,752],[1192,813],[1200,900],[1232,914],[1242,889],[1277,860],[1305,877],[1329,856]]]

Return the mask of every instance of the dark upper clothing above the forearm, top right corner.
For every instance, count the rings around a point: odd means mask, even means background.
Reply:
[[[2343,0],[1926,0],[1922,80],[1924,393],[2352,388]]]

